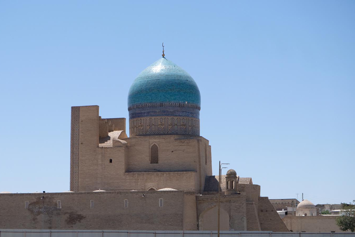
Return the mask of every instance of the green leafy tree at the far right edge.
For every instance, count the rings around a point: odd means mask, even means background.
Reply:
[[[340,211],[341,216],[337,217],[336,223],[342,231],[355,231],[355,200],[346,204],[343,203],[343,210]]]

